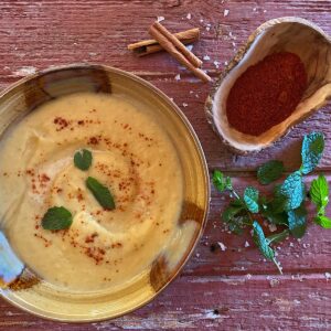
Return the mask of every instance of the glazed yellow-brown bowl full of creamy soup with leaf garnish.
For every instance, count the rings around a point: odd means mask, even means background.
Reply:
[[[0,248],[22,265],[1,275],[1,296],[62,321],[152,300],[209,210],[205,158],[181,110],[132,74],[77,64],[21,79],[0,113]]]

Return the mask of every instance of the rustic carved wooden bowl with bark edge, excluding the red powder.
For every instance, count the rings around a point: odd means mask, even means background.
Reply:
[[[308,87],[293,113],[258,137],[229,126],[226,99],[235,81],[252,65],[276,52],[291,52],[305,64]],[[221,74],[206,99],[207,121],[232,150],[259,151],[286,135],[296,124],[322,107],[331,96],[331,39],[313,23],[299,18],[279,18],[261,24],[248,38]],[[267,109],[266,109],[267,111]],[[247,109],[247,117],[249,109]]]

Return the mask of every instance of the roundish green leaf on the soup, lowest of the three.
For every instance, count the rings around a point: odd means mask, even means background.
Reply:
[[[42,220],[45,229],[64,229],[73,223],[72,213],[63,206],[54,206],[47,210]]]

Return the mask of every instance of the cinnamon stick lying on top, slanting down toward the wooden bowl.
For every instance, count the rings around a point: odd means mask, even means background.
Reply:
[[[156,39],[159,44],[181,64],[186,66],[196,77],[204,82],[210,82],[212,78],[197,66],[201,65],[201,60],[190,52],[175,36],[173,36],[164,26],[160,28],[159,22],[154,22],[149,28],[150,35]],[[171,36],[169,36],[169,34]]]

